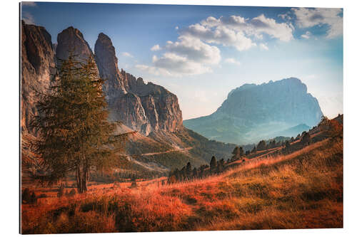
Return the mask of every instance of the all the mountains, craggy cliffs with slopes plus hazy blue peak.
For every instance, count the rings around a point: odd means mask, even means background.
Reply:
[[[94,51],[74,27],[61,31],[54,44],[44,27],[22,21],[21,37],[21,153],[29,166],[36,164],[36,154],[28,144],[38,137],[29,122],[39,114],[39,95],[49,93],[69,51],[80,60],[93,56],[99,75],[106,79],[109,120],[116,122],[116,132],[130,133],[125,154],[118,156],[126,164],[124,172],[169,172],[187,162],[197,167],[213,155],[228,159],[236,144],[295,136],[316,125],[322,115],[306,85],[288,78],[242,85],[212,115],[183,121],[174,93],[119,70],[116,50],[106,34],[99,33]]]

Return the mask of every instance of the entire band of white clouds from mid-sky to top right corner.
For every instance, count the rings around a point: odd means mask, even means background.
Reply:
[[[252,19],[242,16],[221,16],[206,19],[190,26],[178,28],[177,41],[167,41],[165,46],[156,44],[151,51],[162,51],[161,56],[153,56],[151,65],[136,65],[154,75],[197,75],[210,73],[213,66],[221,62],[218,47],[233,48],[237,52],[258,47],[268,51],[266,41],[289,42],[294,39],[295,28],[311,28],[327,25],[327,38],[341,36],[343,33],[342,9],[291,9],[286,14],[279,14],[276,19],[260,14]],[[308,39],[311,31],[306,31],[300,38]],[[226,58],[224,63],[239,65],[233,58]]]

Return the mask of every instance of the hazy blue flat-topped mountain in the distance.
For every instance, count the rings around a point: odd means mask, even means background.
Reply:
[[[287,78],[242,85],[231,90],[216,112],[184,120],[183,125],[209,139],[248,144],[295,136],[316,125],[322,115],[318,100],[307,93],[306,85],[298,78]]]

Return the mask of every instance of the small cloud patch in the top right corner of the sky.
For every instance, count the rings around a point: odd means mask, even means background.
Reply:
[[[326,36],[333,38],[343,34],[342,9],[292,9],[299,28],[328,25]]]

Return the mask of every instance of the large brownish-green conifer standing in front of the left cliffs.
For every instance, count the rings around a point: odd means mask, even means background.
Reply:
[[[34,142],[46,168],[44,181],[53,183],[76,174],[79,193],[87,191],[91,168],[109,167],[113,154],[123,149],[125,135],[113,135],[106,100],[94,58],[81,63],[73,53],[61,60],[59,77],[49,95],[41,95],[40,115],[32,121],[41,139]]]

